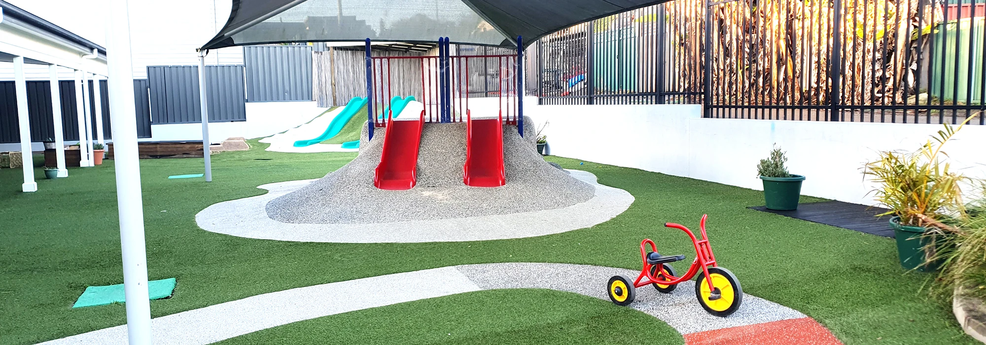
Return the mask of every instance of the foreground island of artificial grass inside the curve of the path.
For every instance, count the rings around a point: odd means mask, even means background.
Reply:
[[[684,341],[674,329],[643,312],[573,293],[519,289],[350,311],[219,343],[671,345]]]

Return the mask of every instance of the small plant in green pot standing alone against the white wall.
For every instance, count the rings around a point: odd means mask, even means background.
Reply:
[[[763,198],[767,208],[779,211],[798,209],[798,199],[801,198],[801,184],[805,176],[788,173],[784,163],[788,158],[779,147],[770,151],[770,158],[760,160],[756,171],[763,180]]]

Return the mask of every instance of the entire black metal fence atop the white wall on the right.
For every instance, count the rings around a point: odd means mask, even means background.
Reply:
[[[896,123],[986,111],[986,0],[677,0],[537,49],[540,104]]]

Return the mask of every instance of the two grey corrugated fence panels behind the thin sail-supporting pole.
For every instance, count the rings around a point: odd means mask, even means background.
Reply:
[[[205,66],[209,121],[246,121],[244,66]],[[198,66],[148,66],[151,122],[195,123],[202,120],[198,100]]]

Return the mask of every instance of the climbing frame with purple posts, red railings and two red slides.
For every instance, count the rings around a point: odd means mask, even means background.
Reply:
[[[519,46],[520,41],[518,37]],[[524,136],[523,98],[519,92],[524,78],[520,64],[523,50],[518,49],[517,55],[452,55],[450,46],[449,38],[443,37],[439,38],[437,56],[373,56],[371,40],[366,40],[369,140],[374,140],[377,128],[386,128],[381,162],[374,176],[378,188],[414,187],[418,146],[426,122],[466,122],[463,183],[478,187],[507,183],[504,125],[516,125]],[[408,75],[414,71],[420,71],[420,88],[408,83]],[[473,80],[482,81],[482,87],[473,87]],[[469,96],[476,93],[485,99],[482,109],[469,107]],[[393,95],[420,97],[424,107],[419,118],[393,120],[388,109],[402,107],[395,104],[400,98]],[[494,98],[495,108],[489,102]],[[383,103],[377,106],[374,100]],[[473,110],[483,110],[487,115],[474,118]],[[488,115],[492,113],[496,117]]]

